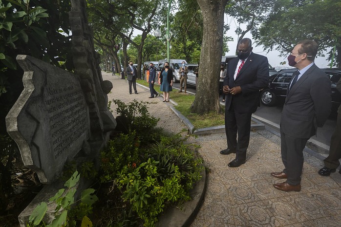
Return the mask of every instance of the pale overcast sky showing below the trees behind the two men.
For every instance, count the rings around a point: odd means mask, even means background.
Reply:
[[[231,18],[230,16],[227,16],[225,14],[224,23],[230,25],[230,30],[228,31],[228,33],[226,35],[227,36],[231,36],[231,37],[234,38],[234,41],[228,42],[230,52],[225,53],[225,54],[227,56],[235,55],[235,49],[237,47],[238,36],[235,34],[234,31],[235,31],[235,29],[236,29],[236,27],[238,25],[238,24],[235,24],[235,23],[237,23],[237,21],[235,19]],[[244,27],[243,27],[243,25],[241,25],[241,27],[245,29],[246,25],[244,25]],[[250,32],[247,33],[244,36],[244,38],[251,38],[251,40],[253,42],[255,41],[254,39],[252,39],[252,36],[251,36]],[[254,53],[268,57],[268,61],[269,61],[270,65],[272,65],[276,69],[277,69],[277,67],[291,68],[288,65],[287,56],[285,56],[285,57],[278,57],[279,52],[277,50],[270,51],[269,53],[267,53],[267,50],[263,51],[263,47],[262,46],[253,45],[253,47],[254,47],[254,49],[253,49]],[[289,53],[288,53],[288,55],[289,55]],[[325,54],[325,57],[317,57],[317,58],[315,58],[315,64],[318,67],[320,67],[320,68],[328,68],[328,63],[329,62],[326,59],[327,59],[327,55],[326,54]],[[280,65],[279,62],[282,62],[282,61],[286,61],[287,64],[286,65]]]

